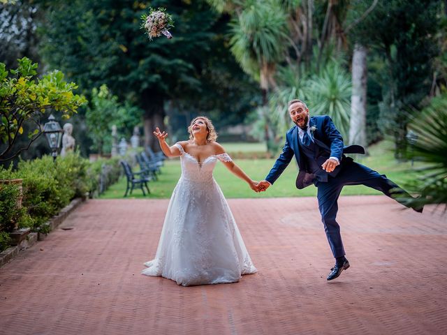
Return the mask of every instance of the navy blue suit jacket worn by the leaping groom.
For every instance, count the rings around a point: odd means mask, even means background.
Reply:
[[[315,127],[315,131],[313,133],[311,131],[311,133],[317,148],[314,156],[316,163],[321,166],[329,157],[337,157],[340,162],[337,168],[330,173],[325,172],[323,168],[316,173],[312,173],[306,166],[304,154],[300,152],[300,146],[298,145],[298,126],[293,126],[293,128],[287,131],[286,143],[284,144],[282,153],[279,155],[265,180],[273,184],[287,167],[288,163],[291,162],[293,156],[295,156],[300,170],[295,181],[295,186],[300,189],[305,188],[314,184],[316,174],[326,180],[328,175],[332,177],[337,176],[343,168],[343,164],[348,160],[352,161],[351,158],[346,158],[344,154],[365,154],[365,149],[360,147],[360,145],[344,146],[342,135],[335,128],[332,119],[327,115],[310,117],[309,128],[312,129],[313,127]]]

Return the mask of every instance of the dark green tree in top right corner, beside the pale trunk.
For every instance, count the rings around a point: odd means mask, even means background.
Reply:
[[[430,93],[440,5],[439,0],[379,1],[365,20],[351,29],[351,40],[370,47],[386,64],[379,73],[381,119],[385,121],[382,126],[395,137],[397,158],[405,157],[409,110]],[[356,20],[368,6],[365,1],[352,1],[349,20]]]

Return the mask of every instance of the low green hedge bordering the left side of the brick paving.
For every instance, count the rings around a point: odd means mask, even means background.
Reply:
[[[0,179],[22,179],[22,208],[15,206],[17,186],[0,184],[0,232],[19,228],[31,228],[48,232],[45,223],[65,207],[73,198],[85,197],[86,193],[98,193],[119,178],[118,158],[89,163],[77,152],[53,162],[51,156],[34,161],[21,161],[18,169],[0,168]]]

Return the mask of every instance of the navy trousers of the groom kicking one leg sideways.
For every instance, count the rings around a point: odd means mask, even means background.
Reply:
[[[326,237],[335,258],[345,255],[340,227],[336,221],[340,192],[345,185],[365,185],[381,191],[403,204],[403,198],[411,197],[406,191],[390,181],[385,174],[379,174],[365,165],[346,162],[337,177],[328,177],[327,182],[317,182],[318,208],[321,213]],[[402,199],[402,201],[399,200]]]

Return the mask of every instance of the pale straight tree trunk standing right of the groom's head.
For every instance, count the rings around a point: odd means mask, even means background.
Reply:
[[[366,140],[366,94],[367,50],[356,43],[352,59],[351,124],[349,144],[367,146]]]

